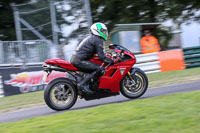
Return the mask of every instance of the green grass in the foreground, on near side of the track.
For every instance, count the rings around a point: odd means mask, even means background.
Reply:
[[[199,133],[200,91],[0,124],[2,133]]]

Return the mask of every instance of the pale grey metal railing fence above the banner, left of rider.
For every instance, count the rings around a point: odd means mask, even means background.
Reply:
[[[36,63],[50,58],[49,41],[0,41],[0,64]]]

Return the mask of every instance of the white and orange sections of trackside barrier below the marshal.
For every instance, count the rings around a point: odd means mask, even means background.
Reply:
[[[183,51],[181,49],[136,55],[139,67],[145,73],[177,71],[185,69]]]

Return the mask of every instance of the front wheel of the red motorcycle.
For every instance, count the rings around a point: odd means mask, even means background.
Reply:
[[[138,69],[131,75],[126,75],[120,82],[120,92],[127,98],[135,99],[141,97],[148,88],[146,74]]]

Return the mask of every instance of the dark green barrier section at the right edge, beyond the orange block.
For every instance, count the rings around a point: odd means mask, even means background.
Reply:
[[[183,48],[185,67],[200,67],[200,46]]]

